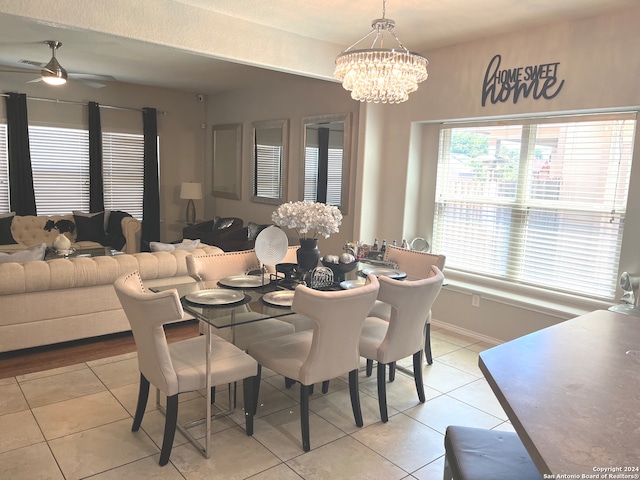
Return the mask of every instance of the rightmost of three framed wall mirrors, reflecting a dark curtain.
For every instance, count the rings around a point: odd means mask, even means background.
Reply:
[[[302,197],[347,211],[349,198],[350,114],[303,119]]]

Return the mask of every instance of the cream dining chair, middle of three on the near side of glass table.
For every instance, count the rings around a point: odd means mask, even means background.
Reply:
[[[362,324],[378,295],[378,279],[369,275],[361,288],[318,291],[296,287],[292,309],[313,322],[313,330],[264,340],[249,346],[249,355],[262,367],[300,383],[300,427],[302,448],[311,449],[309,439],[309,395],[315,383],[349,374],[351,407],[356,425],[362,426],[358,390],[358,342]],[[256,401],[258,396],[256,395]],[[255,409],[254,409],[255,410]]]

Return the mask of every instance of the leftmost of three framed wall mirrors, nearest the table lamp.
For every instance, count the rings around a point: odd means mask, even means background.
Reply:
[[[213,127],[214,197],[240,200],[242,186],[242,124]]]

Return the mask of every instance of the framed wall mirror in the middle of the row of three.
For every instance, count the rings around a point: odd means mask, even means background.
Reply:
[[[253,124],[253,196],[259,203],[284,202],[287,175],[288,120]]]

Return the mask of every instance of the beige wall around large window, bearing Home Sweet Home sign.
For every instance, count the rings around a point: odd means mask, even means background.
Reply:
[[[361,113],[359,167],[364,171],[363,239],[430,238],[434,211],[438,124],[446,120],[508,117],[544,112],[638,107],[640,89],[640,8],[581,21],[551,24],[426,53],[429,78],[401,105],[367,105]],[[481,105],[489,61],[502,55],[501,68],[560,62],[562,91],[553,99],[521,98]],[[366,119],[366,122],[364,121]],[[620,272],[640,271],[640,142],[636,142]],[[375,154],[371,154],[371,152]],[[375,175],[370,172],[376,172]],[[419,178],[418,183],[416,177]],[[397,192],[389,195],[369,192]],[[397,212],[395,214],[394,212]],[[442,252],[446,254],[446,252]],[[605,307],[572,298],[517,296],[482,282],[448,275],[434,318],[489,339],[508,340]],[[454,279],[455,278],[455,279]],[[576,279],[579,281],[579,279]],[[471,307],[471,295],[481,295]]]

